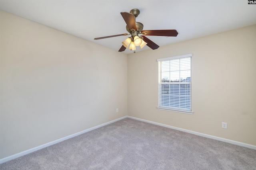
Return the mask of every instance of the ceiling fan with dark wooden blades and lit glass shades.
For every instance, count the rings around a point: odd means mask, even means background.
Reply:
[[[124,35],[131,35],[131,37],[128,37],[125,41],[122,42],[122,47],[119,49],[119,52],[124,51],[126,48],[129,47],[130,50],[134,50],[136,46],[140,46],[140,48],[143,48],[145,45],[150,47],[151,49],[158,49],[158,45],[145,37],[145,35],[154,35],[154,36],[165,36],[165,37],[176,37],[178,35],[178,32],[176,29],[162,29],[162,30],[142,30],[143,24],[140,22],[137,22],[135,19],[140,14],[140,10],[138,9],[132,9],[130,13],[128,12],[120,12],[122,17],[124,18],[124,21],[126,22],[126,30],[129,32],[129,34],[118,34],[118,35],[110,35],[106,37],[98,37],[94,39],[104,39],[104,38],[110,38],[110,37],[118,37],[118,36],[124,36]],[[142,34],[139,36],[139,34]]]

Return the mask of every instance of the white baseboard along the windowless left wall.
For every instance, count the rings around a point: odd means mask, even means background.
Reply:
[[[40,145],[40,146],[38,146],[38,147],[34,147],[34,148],[32,148],[32,149],[25,150],[25,151],[23,151],[23,152],[20,152],[20,153],[17,153],[17,154],[8,156],[8,157],[6,157],[6,158],[2,158],[2,159],[0,159],[0,164],[2,164],[2,163],[4,163],[4,162],[7,162],[7,161],[9,161],[9,160],[18,158],[18,157],[20,157],[20,156],[24,156],[24,155],[29,154],[29,153],[31,153],[31,152],[34,152],[34,151],[36,151],[36,150],[40,150],[40,149],[49,147],[49,146],[51,146],[51,145],[54,145],[54,144],[56,144],[56,143],[65,141],[65,140],[70,139],[70,138],[72,138],[72,137],[76,137],[76,136],[81,135],[81,134],[83,134],[83,133],[86,133],[86,132],[88,132],[88,131],[92,131],[92,130],[97,129],[97,128],[99,128],[99,127],[108,125],[108,124],[110,124],[110,123],[114,123],[114,122],[119,121],[119,120],[122,120],[122,119],[124,119],[124,118],[127,118],[127,116],[121,117],[121,118],[119,118],[119,119],[115,119],[115,120],[113,120],[113,121],[109,121],[109,122],[107,122],[107,123],[103,123],[103,124],[101,124],[101,125],[92,127],[92,128],[90,128],[90,129],[86,129],[86,130],[84,130],[84,131],[80,131],[80,132],[75,133],[75,134],[73,134],[73,135],[69,135],[69,136],[67,136],[67,137],[63,137],[63,138],[61,138],[61,139],[57,139],[56,141],[52,141],[52,142],[46,143],[46,144],[44,144],[44,145]]]

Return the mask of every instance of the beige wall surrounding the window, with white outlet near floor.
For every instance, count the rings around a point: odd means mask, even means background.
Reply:
[[[255,45],[252,25],[128,55],[128,115],[256,145]],[[189,53],[194,114],[158,110],[156,59]]]

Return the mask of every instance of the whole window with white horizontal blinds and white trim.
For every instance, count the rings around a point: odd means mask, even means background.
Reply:
[[[158,109],[192,114],[192,54],[158,59]]]

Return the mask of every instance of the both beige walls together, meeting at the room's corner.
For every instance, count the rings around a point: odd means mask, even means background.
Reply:
[[[125,115],[256,145],[255,44],[253,25],[127,58],[0,11],[0,159]],[[194,114],[156,109],[156,59],[188,53]]]

